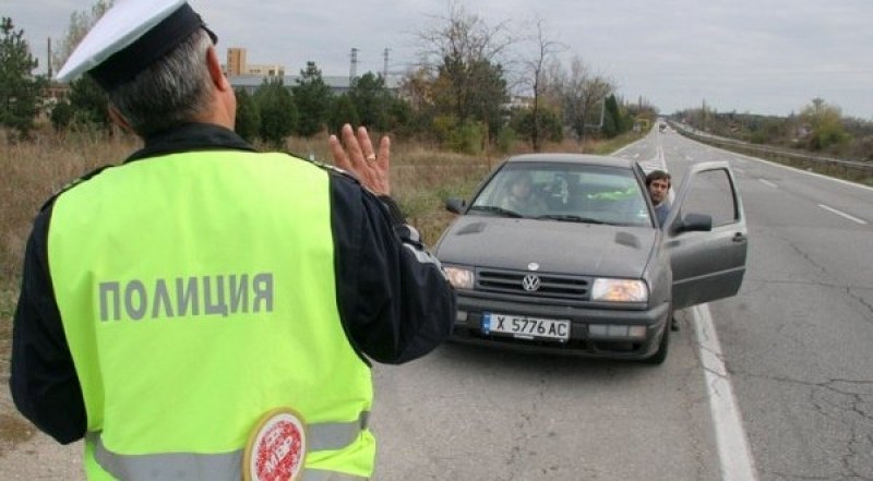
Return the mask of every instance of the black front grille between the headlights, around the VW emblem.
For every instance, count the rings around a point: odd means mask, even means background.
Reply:
[[[525,289],[524,280],[528,276],[536,276],[539,279],[536,290]],[[476,290],[488,292],[587,301],[590,286],[591,278],[583,276],[501,269],[476,272]]]

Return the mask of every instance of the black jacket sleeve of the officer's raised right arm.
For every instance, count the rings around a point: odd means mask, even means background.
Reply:
[[[455,293],[439,261],[390,197],[331,178],[337,302],[359,353],[399,364],[433,350],[452,332]]]

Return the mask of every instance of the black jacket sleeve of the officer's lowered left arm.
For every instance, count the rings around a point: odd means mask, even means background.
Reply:
[[[50,216],[49,206],[36,218],[27,240],[9,386],[25,418],[68,444],[85,435],[87,417],[48,270]]]

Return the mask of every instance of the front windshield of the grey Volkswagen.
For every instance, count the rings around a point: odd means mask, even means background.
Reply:
[[[645,191],[626,168],[511,163],[470,205],[471,213],[542,220],[651,226]]]

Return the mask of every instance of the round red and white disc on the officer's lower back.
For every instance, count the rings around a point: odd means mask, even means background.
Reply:
[[[300,414],[290,409],[270,411],[249,436],[243,478],[247,481],[296,480],[306,455],[306,424]]]

